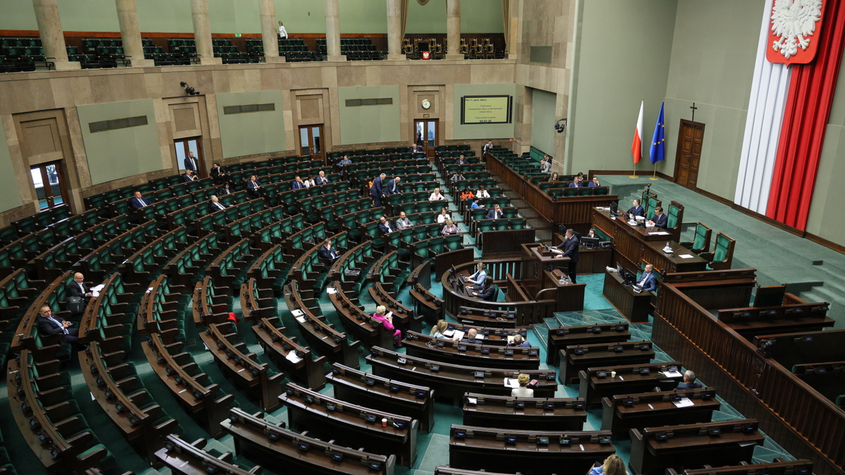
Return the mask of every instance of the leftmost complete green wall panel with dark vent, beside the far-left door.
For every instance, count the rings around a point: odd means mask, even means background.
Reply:
[[[91,184],[163,169],[151,99],[77,106]],[[146,116],[147,125],[91,134],[89,123]]]

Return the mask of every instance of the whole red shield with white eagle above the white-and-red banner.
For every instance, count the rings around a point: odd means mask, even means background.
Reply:
[[[775,0],[766,59],[786,64],[813,61],[823,10],[823,0]]]

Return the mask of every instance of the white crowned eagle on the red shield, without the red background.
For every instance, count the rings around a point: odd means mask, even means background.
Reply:
[[[821,9],[822,0],[775,0],[771,9],[771,49],[787,60],[798,55],[799,48],[807,51],[810,36],[814,35],[816,23],[821,19]],[[815,47],[812,49],[815,52]],[[772,61],[771,57],[769,60]]]

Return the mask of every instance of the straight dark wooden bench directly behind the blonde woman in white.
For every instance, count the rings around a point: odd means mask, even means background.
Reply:
[[[464,395],[464,425],[501,429],[583,430],[586,404],[577,397]]]

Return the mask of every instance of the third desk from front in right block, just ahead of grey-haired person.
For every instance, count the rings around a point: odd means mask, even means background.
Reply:
[[[582,369],[578,372],[578,380],[581,383],[578,397],[585,400],[587,404],[598,404],[602,397],[611,397],[617,394],[632,394],[635,392],[647,392],[655,386],[660,390],[673,390],[684,376],[667,378],[662,371],[674,366],[681,369],[681,363],[649,363],[649,364],[620,364],[617,366],[602,366],[597,368]],[[641,369],[648,369],[648,374],[641,374]],[[611,372],[615,371],[616,376]],[[598,373],[607,373],[599,377]]]

